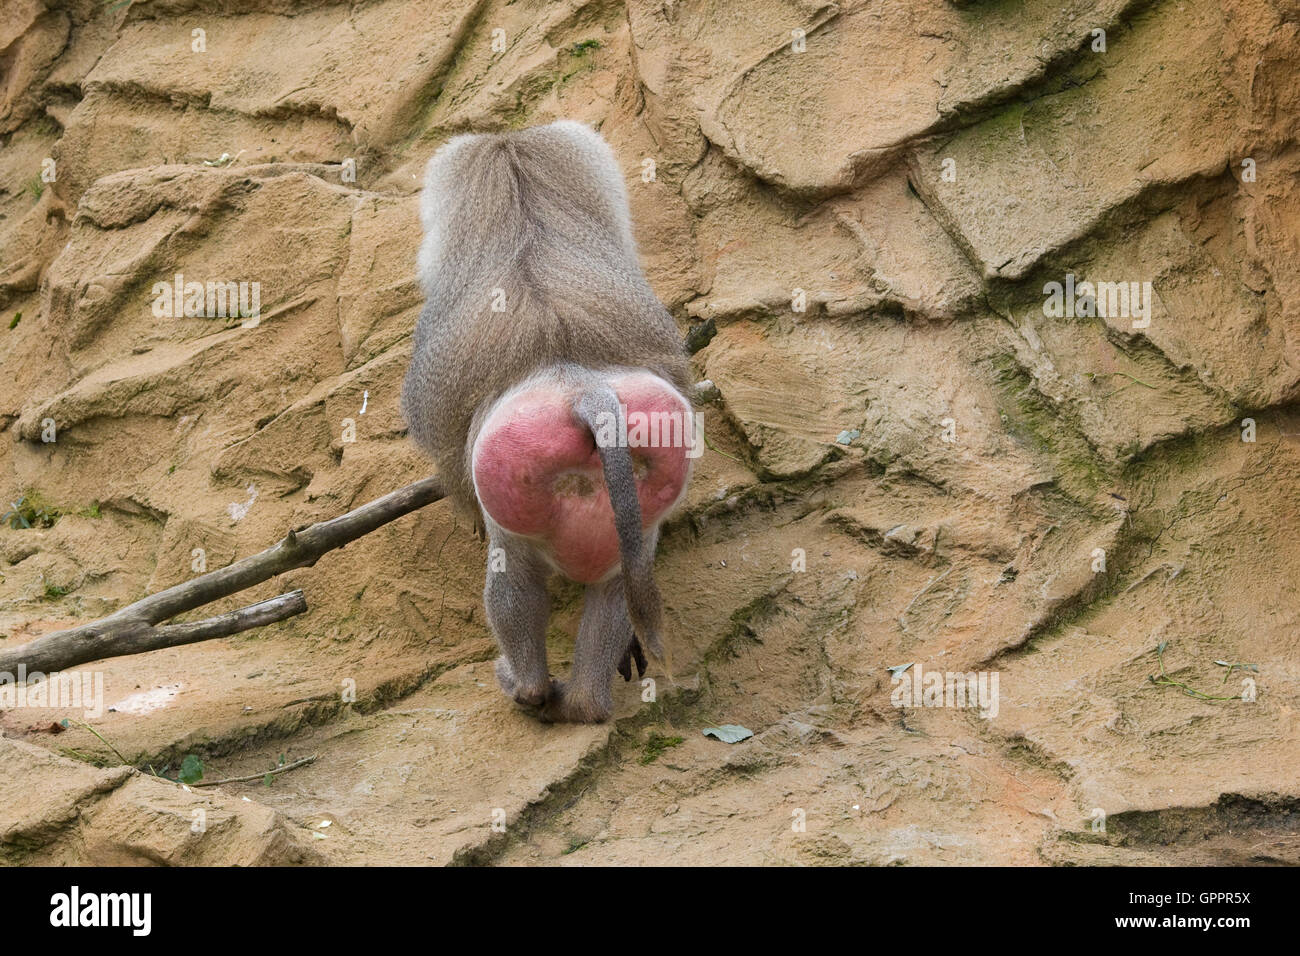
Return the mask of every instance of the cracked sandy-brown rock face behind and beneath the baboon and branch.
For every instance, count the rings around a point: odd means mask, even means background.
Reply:
[[[672,674],[610,723],[502,696],[442,502],[216,607],[303,615],[79,667],[103,713],[0,709],[0,861],[1300,862],[1297,33],[1296,0],[9,0],[0,649],[429,473],[398,397],[456,133],[602,131],[722,401],[656,564]],[[177,274],[257,282],[260,323],[159,316]],[[1147,323],[1049,315],[1067,276],[1149,282]],[[918,671],[994,706],[897,706]],[[252,779],[150,773],[186,757]]]

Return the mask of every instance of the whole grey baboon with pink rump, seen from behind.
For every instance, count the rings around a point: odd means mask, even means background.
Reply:
[[[429,160],[420,219],[402,410],[486,532],[497,678],[545,721],[604,721],[615,671],[663,658],[654,553],[698,454],[685,349],[637,261],[623,177],[577,122],[459,135]],[[680,423],[675,446],[633,434],[646,418]],[[586,585],[567,682],[546,665],[556,572]]]

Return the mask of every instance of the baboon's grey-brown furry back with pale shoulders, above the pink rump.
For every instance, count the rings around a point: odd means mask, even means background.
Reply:
[[[676,325],[637,263],[621,174],[592,130],[458,137],[429,161],[420,213],[426,298],[402,407],[462,506],[473,501],[474,412],[533,372],[649,368],[686,389]]]

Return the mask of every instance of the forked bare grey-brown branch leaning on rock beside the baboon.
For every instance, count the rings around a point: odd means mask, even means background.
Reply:
[[[445,497],[436,477],[415,481],[346,515],[290,531],[280,542],[218,571],[211,571],[157,594],[150,594],[100,620],[38,637],[0,652],[0,675],[65,670],[107,657],[228,637],[307,610],[303,592],[291,591],[268,601],[186,624],[161,624],[195,607],[212,604],[299,567],[311,567],[322,554]]]

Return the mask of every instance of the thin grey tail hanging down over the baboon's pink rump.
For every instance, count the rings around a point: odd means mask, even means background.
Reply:
[[[597,454],[604,471],[604,485],[614,506],[614,527],[619,533],[623,558],[623,591],[628,602],[632,630],[646,652],[667,665],[663,649],[663,600],[654,583],[654,551],[645,546],[641,535],[641,501],[632,472],[632,454],[618,441],[621,419],[619,397],[608,385],[588,388],[573,407],[578,419],[592,429]],[[612,441],[608,438],[614,429]],[[640,669],[638,669],[640,670]]]

